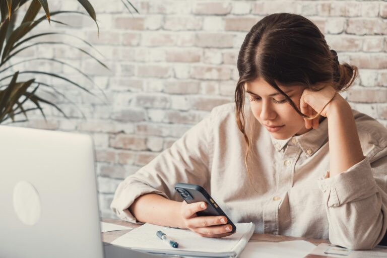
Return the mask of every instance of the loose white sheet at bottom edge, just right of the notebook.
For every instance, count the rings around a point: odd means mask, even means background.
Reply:
[[[240,258],[303,258],[316,246],[304,240],[285,242],[249,242]]]

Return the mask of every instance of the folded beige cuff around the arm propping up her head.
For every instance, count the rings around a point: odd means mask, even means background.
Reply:
[[[336,176],[323,176],[317,181],[324,192],[328,207],[338,207],[349,202],[363,200],[377,192],[368,157]]]

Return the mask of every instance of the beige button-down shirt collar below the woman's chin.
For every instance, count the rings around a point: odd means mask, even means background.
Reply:
[[[302,135],[295,135],[285,140],[275,139],[272,135],[270,137],[277,151],[281,151],[287,145],[298,145],[306,156],[312,156],[328,139],[328,119],[325,118],[317,128]]]

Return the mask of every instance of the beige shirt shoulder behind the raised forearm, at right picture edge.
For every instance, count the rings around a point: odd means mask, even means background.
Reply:
[[[371,158],[387,147],[387,128],[369,115],[354,109],[352,113],[364,155]]]

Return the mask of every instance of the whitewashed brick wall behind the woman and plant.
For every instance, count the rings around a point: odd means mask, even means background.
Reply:
[[[35,33],[55,29],[88,40],[104,57],[89,51],[110,71],[87,55],[61,46],[31,48],[18,59],[60,57],[104,90],[107,99],[73,69],[40,61],[38,67],[44,71],[64,74],[99,98],[49,78],[47,82],[75,102],[87,120],[57,96],[53,99],[71,120],[46,107],[47,123],[36,114],[24,125],[94,137],[105,217],[114,217],[108,207],[122,178],[168,148],[211,108],[232,101],[239,47],[250,27],[273,12],[294,12],[315,22],[338,51],[339,60],[360,70],[353,88],[343,95],[354,108],[387,125],[386,1],[132,1],[140,15],[129,14],[119,0],[91,3],[99,20],[99,37],[91,19],[74,15],[54,18],[72,28],[43,23]],[[82,10],[75,0],[52,0],[50,7],[51,11]],[[62,38],[83,46],[77,39]]]

